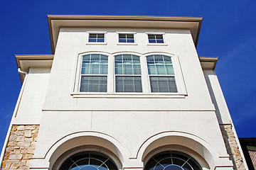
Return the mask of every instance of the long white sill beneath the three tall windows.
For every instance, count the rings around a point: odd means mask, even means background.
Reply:
[[[185,98],[187,94],[177,93],[97,93],[97,92],[78,92],[70,94],[73,98]]]

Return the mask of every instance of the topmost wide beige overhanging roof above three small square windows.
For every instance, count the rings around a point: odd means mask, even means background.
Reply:
[[[60,28],[164,28],[191,31],[195,46],[198,43],[203,18],[172,16],[58,16],[48,15],[52,53]]]

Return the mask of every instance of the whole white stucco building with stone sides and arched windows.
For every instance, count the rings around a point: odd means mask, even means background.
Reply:
[[[2,169],[247,169],[201,23],[48,16],[53,55],[16,55]]]

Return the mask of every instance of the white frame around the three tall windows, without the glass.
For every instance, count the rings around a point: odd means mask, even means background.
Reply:
[[[82,56],[90,54],[107,55],[108,57],[108,74],[107,74],[107,92],[80,92],[80,73],[82,66]],[[115,72],[114,72],[114,56],[116,55],[137,55],[139,56],[142,79],[142,92],[115,92]],[[146,56],[149,55],[166,55],[171,57],[174,67],[174,77],[176,81],[177,92],[151,92],[149,72],[147,68]],[[91,98],[91,97],[106,97],[106,98],[185,98],[187,96],[186,86],[181,71],[181,65],[178,55],[166,52],[82,52],[76,57],[76,62],[73,72],[73,83],[71,86],[70,95],[75,98]],[[94,75],[94,74],[92,74]],[[125,75],[124,75],[125,76]],[[136,76],[136,75],[135,75]]]

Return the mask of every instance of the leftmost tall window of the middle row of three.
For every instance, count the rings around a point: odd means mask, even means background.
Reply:
[[[80,92],[107,92],[107,55],[82,56]]]

